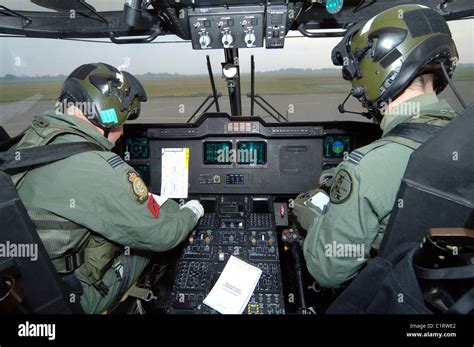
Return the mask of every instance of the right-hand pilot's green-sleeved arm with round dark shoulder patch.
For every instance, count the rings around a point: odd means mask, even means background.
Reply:
[[[374,241],[383,236],[406,167],[406,159],[389,146],[371,151],[357,164],[342,162],[330,202],[319,215],[294,209],[307,230],[303,250],[308,270],[323,287],[338,287],[353,278]]]

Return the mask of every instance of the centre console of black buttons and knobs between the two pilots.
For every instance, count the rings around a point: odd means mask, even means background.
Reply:
[[[185,241],[167,312],[216,314],[203,304],[230,256],[262,270],[245,314],[284,314],[279,241],[271,196],[198,196],[205,216]],[[260,218],[260,217],[266,218]],[[259,219],[261,222],[256,223]]]

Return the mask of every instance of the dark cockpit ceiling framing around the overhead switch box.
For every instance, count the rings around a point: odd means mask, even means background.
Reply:
[[[349,24],[367,20],[394,5],[413,2],[437,10],[446,20],[474,17],[472,0],[344,0],[342,9],[336,14],[326,11],[325,0],[322,0],[323,3],[309,0],[141,1],[138,2],[141,3],[141,10],[137,5],[136,9],[129,11],[129,6],[124,10],[124,0],[3,0],[0,34],[45,38],[108,37],[115,43],[151,42],[159,35],[174,34],[191,40],[188,18],[193,14],[204,13],[202,11],[207,9],[232,11],[237,7],[244,14],[246,9],[259,8],[263,17],[267,12],[274,11],[275,6],[279,7],[279,11],[287,13],[288,19],[282,28],[283,36],[292,30],[311,37],[341,36],[341,32],[311,34],[308,30],[345,29]],[[136,18],[129,20],[129,15]],[[115,39],[133,36],[145,36],[147,39]]]

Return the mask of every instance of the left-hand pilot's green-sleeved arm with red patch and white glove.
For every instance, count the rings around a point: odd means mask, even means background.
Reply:
[[[161,252],[182,242],[202,216],[202,206],[195,201],[194,205],[180,207],[171,199],[162,203],[149,194],[136,171],[118,156],[99,155],[108,159],[91,202],[88,227],[138,250]]]

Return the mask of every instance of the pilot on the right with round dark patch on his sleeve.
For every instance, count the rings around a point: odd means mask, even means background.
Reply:
[[[423,142],[416,138],[456,115],[437,94],[457,58],[444,19],[420,5],[397,6],[356,24],[334,48],[334,64],[343,66],[351,94],[380,122],[383,136],[325,172],[333,175],[329,184],[294,202],[307,230],[307,267],[321,286],[342,285],[376,253],[410,155]]]

